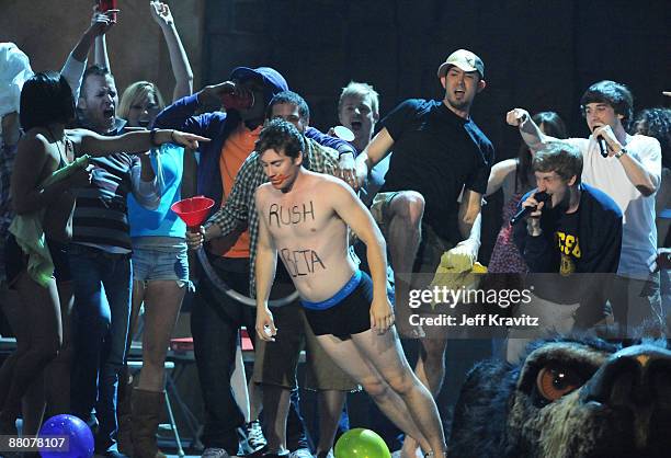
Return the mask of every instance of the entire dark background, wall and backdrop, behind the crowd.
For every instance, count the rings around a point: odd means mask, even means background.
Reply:
[[[627,84],[637,111],[671,102],[661,94],[671,90],[669,0],[167,1],[193,66],[194,90],[228,79],[237,66],[271,66],[307,100],[311,124],[322,130],[337,124],[338,96],[350,80],[375,87],[382,116],[408,98],[442,99],[435,71],[458,48],[485,61],[488,85],[471,114],[494,144],[497,160],[516,154],[520,146],[516,129],[504,122],[515,106],[556,111],[571,135],[585,136],[578,102],[595,81]],[[0,39],[15,42],[35,70],[60,68],[88,26],[91,3],[0,0]],[[147,3],[120,0],[120,24],[107,39],[110,57],[120,90],[150,79],[168,95],[173,84],[169,59]],[[497,196],[484,211],[484,264],[501,224],[500,207]],[[187,310],[185,304],[184,317]],[[178,328],[178,336],[189,335],[186,320]],[[439,401],[444,419],[468,368],[489,355],[488,341],[450,342]],[[190,367],[181,392],[200,415],[195,377]],[[303,405],[315,420],[310,396],[305,393]],[[365,417],[367,397],[355,394],[352,401],[352,423],[378,431]]]

